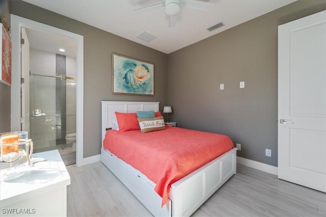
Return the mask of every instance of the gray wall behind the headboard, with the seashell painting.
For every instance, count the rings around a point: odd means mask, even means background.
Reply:
[[[161,111],[167,104],[167,54],[22,1],[11,1],[10,13],[84,36],[84,158],[100,153],[101,101],[155,101]],[[112,94],[112,53],[153,63],[155,96]]]

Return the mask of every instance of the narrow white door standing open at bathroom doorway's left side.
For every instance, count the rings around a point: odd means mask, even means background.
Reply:
[[[25,28],[21,28],[21,130],[30,133],[30,43]]]

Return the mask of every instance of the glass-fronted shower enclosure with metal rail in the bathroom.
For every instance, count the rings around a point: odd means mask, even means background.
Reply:
[[[76,133],[76,78],[66,74],[66,65],[61,67],[61,62],[66,63],[66,56],[57,54],[55,72],[30,71],[30,138],[34,152],[72,145],[66,142],[66,135]]]

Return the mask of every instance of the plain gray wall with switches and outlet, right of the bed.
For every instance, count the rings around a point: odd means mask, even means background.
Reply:
[[[325,0],[299,0],[170,53],[170,119],[226,134],[241,144],[238,156],[277,166],[278,25],[325,9]]]

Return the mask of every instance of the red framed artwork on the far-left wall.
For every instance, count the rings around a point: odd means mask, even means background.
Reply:
[[[0,82],[11,85],[11,41],[2,23],[0,23]]]

